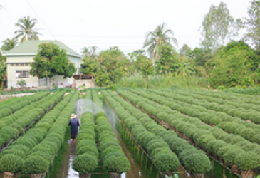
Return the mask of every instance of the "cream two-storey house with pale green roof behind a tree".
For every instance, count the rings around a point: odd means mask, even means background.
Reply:
[[[33,62],[33,58],[38,52],[38,46],[41,43],[51,42],[58,45],[61,49],[66,50],[68,58],[77,68],[75,74],[80,74],[80,59],[82,56],[65,44],[60,41],[25,41],[16,48],[4,53],[6,56],[7,88],[18,88],[19,86],[17,86],[16,83],[21,79],[26,81],[26,87],[48,87],[48,78],[33,77],[32,75],[29,75],[29,70],[31,69],[30,63]],[[58,88],[73,85],[73,78],[63,79],[63,76],[57,75],[53,77],[53,85],[55,84],[58,85]]]

